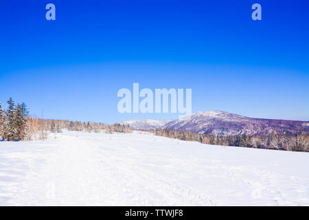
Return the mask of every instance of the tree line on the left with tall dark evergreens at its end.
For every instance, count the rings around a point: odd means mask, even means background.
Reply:
[[[67,131],[85,131],[105,133],[130,133],[129,126],[121,124],[104,124],[96,122],[78,122],[69,120],[48,120],[30,117],[25,103],[15,104],[10,98],[8,108],[0,104],[0,140],[46,140],[49,133]]]

